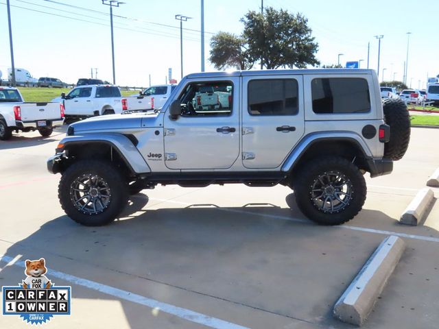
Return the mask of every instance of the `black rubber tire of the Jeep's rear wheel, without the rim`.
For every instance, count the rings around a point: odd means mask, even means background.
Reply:
[[[341,204],[344,208],[338,211],[325,212],[318,208],[313,201],[313,186],[315,186],[318,178],[322,175],[335,175],[340,173],[341,177],[346,179],[350,184],[351,196],[349,199],[344,199],[346,205]],[[332,176],[334,177],[334,176]],[[351,161],[339,156],[322,156],[321,158],[314,158],[305,165],[302,165],[298,172],[294,175],[294,195],[296,203],[302,213],[311,221],[315,221],[320,225],[339,225],[349,221],[358,214],[366,201],[366,182],[361,171]],[[346,183],[347,184],[347,183]],[[335,182],[331,186],[336,186]],[[316,191],[316,190],[314,190]],[[337,189],[335,190],[337,191]],[[322,192],[323,193],[323,192]],[[336,192],[339,193],[339,192]],[[340,198],[340,194],[338,194]],[[317,198],[316,198],[317,199]],[[337,202],[334,199],[335,202]],[[331,200],[329,200],[331,202]],[[324,202],[326,204],[326,200]],[[332,204],[332,202],[331,202]]]

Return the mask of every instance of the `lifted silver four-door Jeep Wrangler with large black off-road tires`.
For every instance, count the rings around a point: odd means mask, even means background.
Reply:
[[[196,73],[160,110],[73,123],[47,167],[62,173],[62,208],[86,226],[156,184],[228,183],[289,186],[309,219],[335,225],[361,210],[364,174],[391,173],[409,140],[405,104],[381,102],[372,70]]]

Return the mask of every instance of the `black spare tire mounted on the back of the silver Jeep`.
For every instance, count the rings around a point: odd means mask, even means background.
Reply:
[[[400,160],[410,142],[410,115],[401,99],[383,101],[384,121],[390,125],[390,141],[384,145],[384,158]]]

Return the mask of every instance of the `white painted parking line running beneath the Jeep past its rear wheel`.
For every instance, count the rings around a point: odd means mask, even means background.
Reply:
[[[189,202],[180,202],[180,201],[167,200],[167,199],[158,199],[155,197],[150,197],[150,200],[156,200],[156,201],[161,201],[161,202],[170,202],[172,204],[181,204],[183,206],[191,206],[191,204]],[[281,216],[281,215],[263,214],[261,212],[251,212],[251,211],[246,211],[246,210],[237,210],[237,209],[219,208],[219,207],[215,208],[215,209],[221,210],[221,211],[228,211],[228,212],[237,212],[237,213],[246,214],[246,215],[256,215],[256,216],[268,217],[268,218],[273,218],[273,219],[282,219],[284,221],[295,221],[298,223],[309,223],[309,221],[305,220],[305,219],[298,219],[298,218],[294,218],[294,217],[287,217],[287,216]],[[401,238],[407,238],[407,239],[429,241],[429,242],[439,242],[439,238],[434,238],[432,236],[406,234],[406,233],[385,231],[385,230],[375,230],[373,228],[361,228],[359,226],[340,225],[340,226],[333,226],[333,228],[347,228],[348,230],[354,230],[354,231],[383,234],[383,235],[396,235],[396,236],[401,236]]]

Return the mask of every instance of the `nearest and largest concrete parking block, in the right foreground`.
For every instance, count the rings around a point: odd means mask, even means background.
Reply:
[[[404,249],[403,239],[387,236],[335,303],[334,316],[348,324],[364,324]]]

